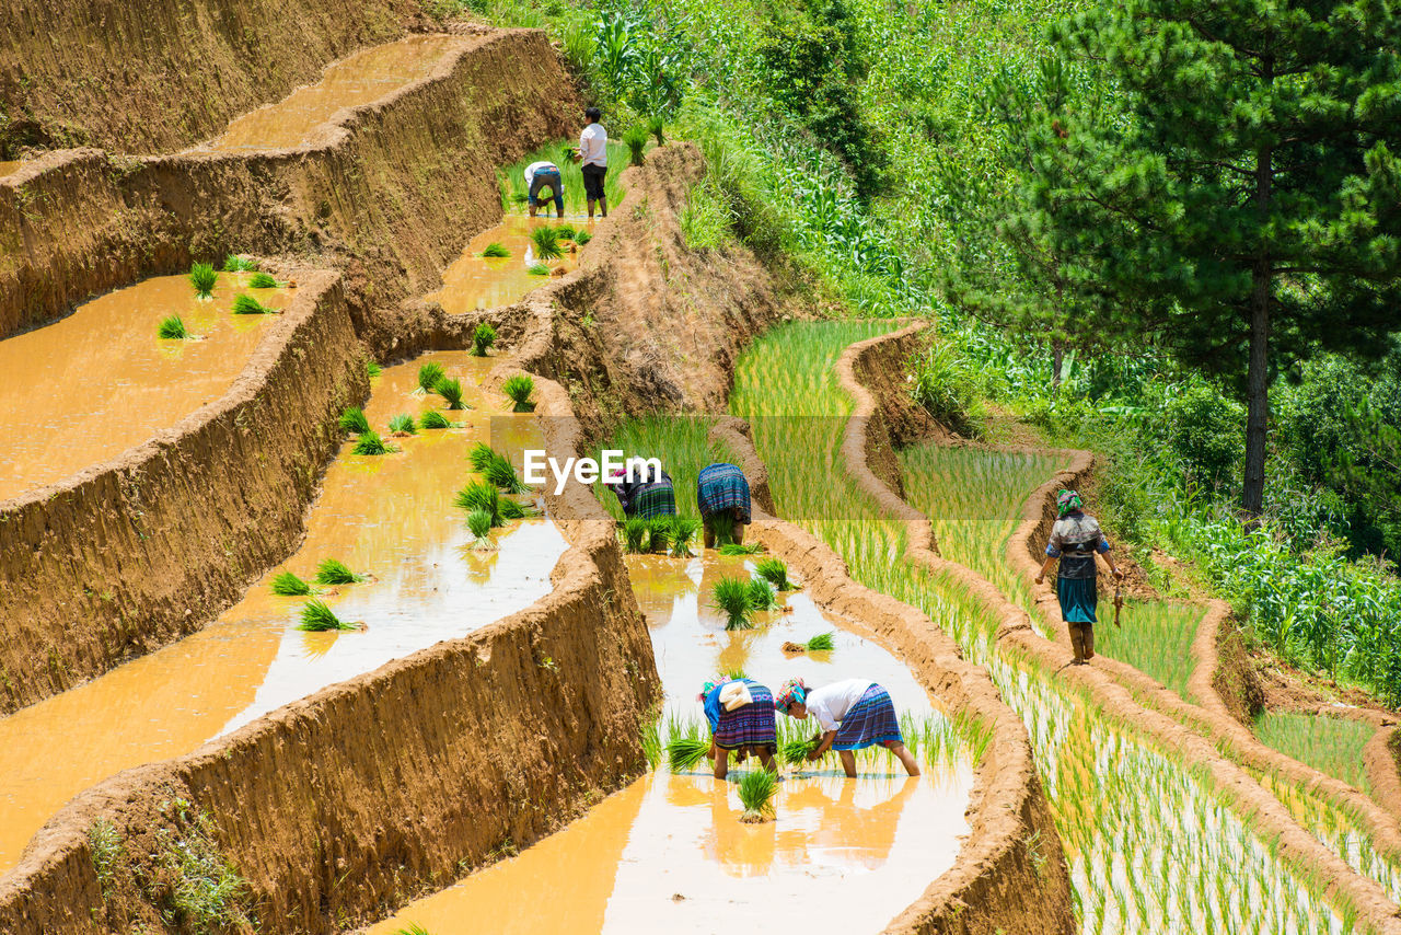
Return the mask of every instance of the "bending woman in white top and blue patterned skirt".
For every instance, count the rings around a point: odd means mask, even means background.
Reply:
[[[836,750],[846,778],[856,778],[856,751],[880,744],[895,754],[912,777],[919,775],[919,764],[905,747],[899,732],[899,718],[890,692],[870,678],[845,678],[821,688],[808,688],[801,678],[789,678],[779,690],[773,707],[789,718],[817,719],[821,736],[807,758],[815,763],[828,750]]]

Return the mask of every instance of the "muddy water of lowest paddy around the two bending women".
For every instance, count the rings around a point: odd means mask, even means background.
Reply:
[[[937,712],[909,670],[849,621],[827,618],[801,592],[792,614],[726,632],[706,607],[720,575],[748,575],[740,558],[629,557],[647,615],[665,714],[702,721],[695,701],[717,669],[743,667],[778,688],[862,676],[890,690],[897,709]],[[785,641],[836,631],[836,649],[789,659]],[[780,715],[782,716],[782,715]],[[665,740],[665,737],[663,737]],[[922,758],[922,757],[920,757]],[[835,757],[780,784],[778,819],[743,824],[733,782],[702,768],[665,767],[632,784],[518,856],[405,907],[370,929],[409,924],[432,935],[524,932],[717,932],[782,920],[804,932],[877,932],[948,869],[972,786],[971,764],[923,765],[909,778],[885,754],[857,757],[846,779]],[[747,767],[731,767],[731,779]]]

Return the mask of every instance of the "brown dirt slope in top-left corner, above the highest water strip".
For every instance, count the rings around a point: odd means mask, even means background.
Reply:
[[[160,153],[401,35],[413,0],[4,0],[0,158],[24,146]]]

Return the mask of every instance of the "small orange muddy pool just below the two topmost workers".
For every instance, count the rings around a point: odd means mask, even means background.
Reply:
[[[535,227],[569,224],[579,230],[588,230],[590,221],[581,217],[566,217],[565,220],[525,217],[521,214],[507,214],[500,226],[483,231],[472,238],[462,255],[454,261],[443,273],[443,289],[432,296],[430,301],[443,306],[448,314],[462,314],[478,308],[496,308],[509,306],[523,299],[528,292],[549,282],[548,276],[537,276],[530,272],[535,262],[535,251],[531,247],[530,233]],[[590,231],[591,233],[591,231]],[[500,244],[511,252],[510,257],[482,257],[488,244]],[[565,255],[559,259],[546,261],[551,269],[569,272],[577,264],[579,254],[570,252],[570,245],[565,245]]]

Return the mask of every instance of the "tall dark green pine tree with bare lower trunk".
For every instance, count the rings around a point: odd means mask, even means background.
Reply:
[[[1038,137],[1027,217],[1117,303],[1101,329],[1243,393],[1251,514],[1278,369],[1401,327],[1398,25],[1390,0],[1128,0],[1054,31],[1124,107]]]

